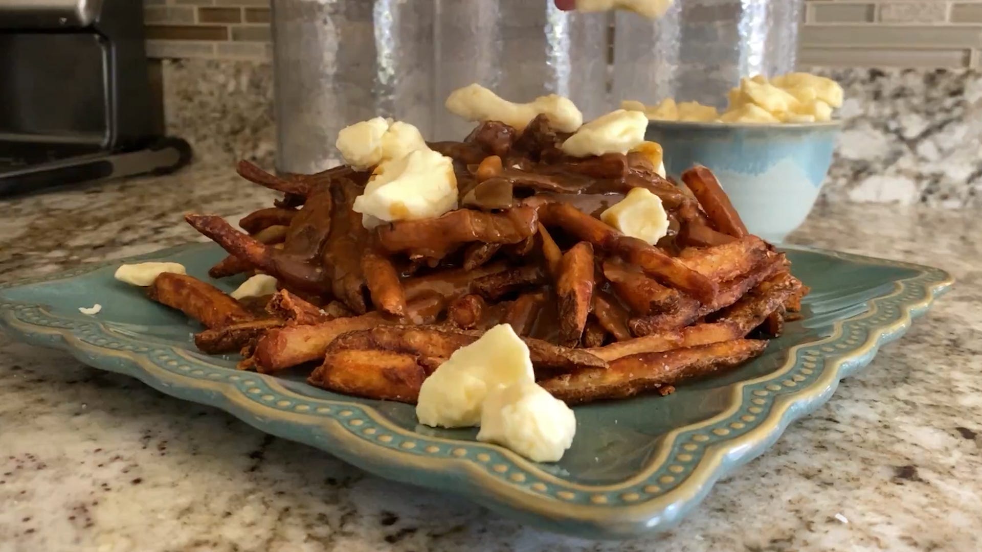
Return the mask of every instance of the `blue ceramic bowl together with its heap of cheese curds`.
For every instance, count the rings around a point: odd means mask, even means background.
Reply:
[[[624,101],[648,117],[646,138],[662,145],[669,176],[709,167],[747,229],[783,242],[811,211],[832,164],[843,88],[807,73],[743,79],[728,108],[669,98],[658,105]]]

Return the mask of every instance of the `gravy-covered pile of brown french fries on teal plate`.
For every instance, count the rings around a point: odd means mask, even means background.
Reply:
[[[279,291],[237,301],[163,273],[149,297],[206,327],[202,352],[410,404],[441,362],[500,323],[527,343],[539,384],[570,404],[665,395],[760,355],[807,293],[785,255],[748,235],[705,167],[677,184],[641,153],[567,157],[568,136],[539,117],[520,133],[485,122],[464,141],[429,143],[455,161],[461,208],[372,230],[352,210],[370,170],[280,178],[242,162],[241,176],[282,199],[242,231],[186,219],[229,253],[211,277],[263,273]],[[635,187],[669,213],[656,246],[597,218]]]

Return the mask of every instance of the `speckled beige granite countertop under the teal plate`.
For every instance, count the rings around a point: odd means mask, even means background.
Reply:
[[[0,201],[0,281],[197,240],[271,194],[191,168]],[[540,532],[0,335],[0,550],[974,550],[982,539],[982,212],[820,206],[799,244],[933,264],[955,290],[677,529]],[[840,516],[837,516],[840,515]]]

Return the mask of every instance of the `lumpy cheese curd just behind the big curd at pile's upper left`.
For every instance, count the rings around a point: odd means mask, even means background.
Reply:
[[[383,160],[401,159],[417,149],[427,149],[418,129],[382,117],[345,127],[338,133],[335,146],[356,171],[367,170]]]

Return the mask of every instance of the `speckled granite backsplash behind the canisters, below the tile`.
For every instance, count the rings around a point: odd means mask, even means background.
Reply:
[[[809,71],[842,83],[847,98],[820,200],[982,206],[982,72]],[[189,139],[198,159],[273,166],[268,63],[168,61],[164,83],[168,130]]]

